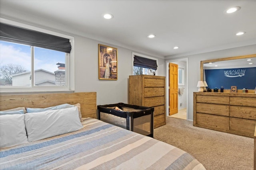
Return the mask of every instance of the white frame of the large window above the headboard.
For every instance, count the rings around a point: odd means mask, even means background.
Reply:
[[[50,31],[48,29],[43,29],[40,27],[35,27],[32,25],[27,25],[24,23],[19,23],[16,21],[6,20],[0,18],[0,22],[23,27],[26,29],[31,29],[34,31],[39,31],[42,33],[48,33],[56,35],[59,37],[64,37],[70,39],[72,50],[69,53],[66,53],[66,86],[34,86],[32,83],[31,86],[0,86],[1,94],[10,94],[10,93],[35,93],[35,92],[71,92],[75,90],[75,59],[74,59],[74,37],[69,35],[64,35],[62,33]],[[31,48],[32,49],[32,48]],[[31,53],[34,53],[31,51]],[[34,58],[31,57],[31,77],[34,78]]]

